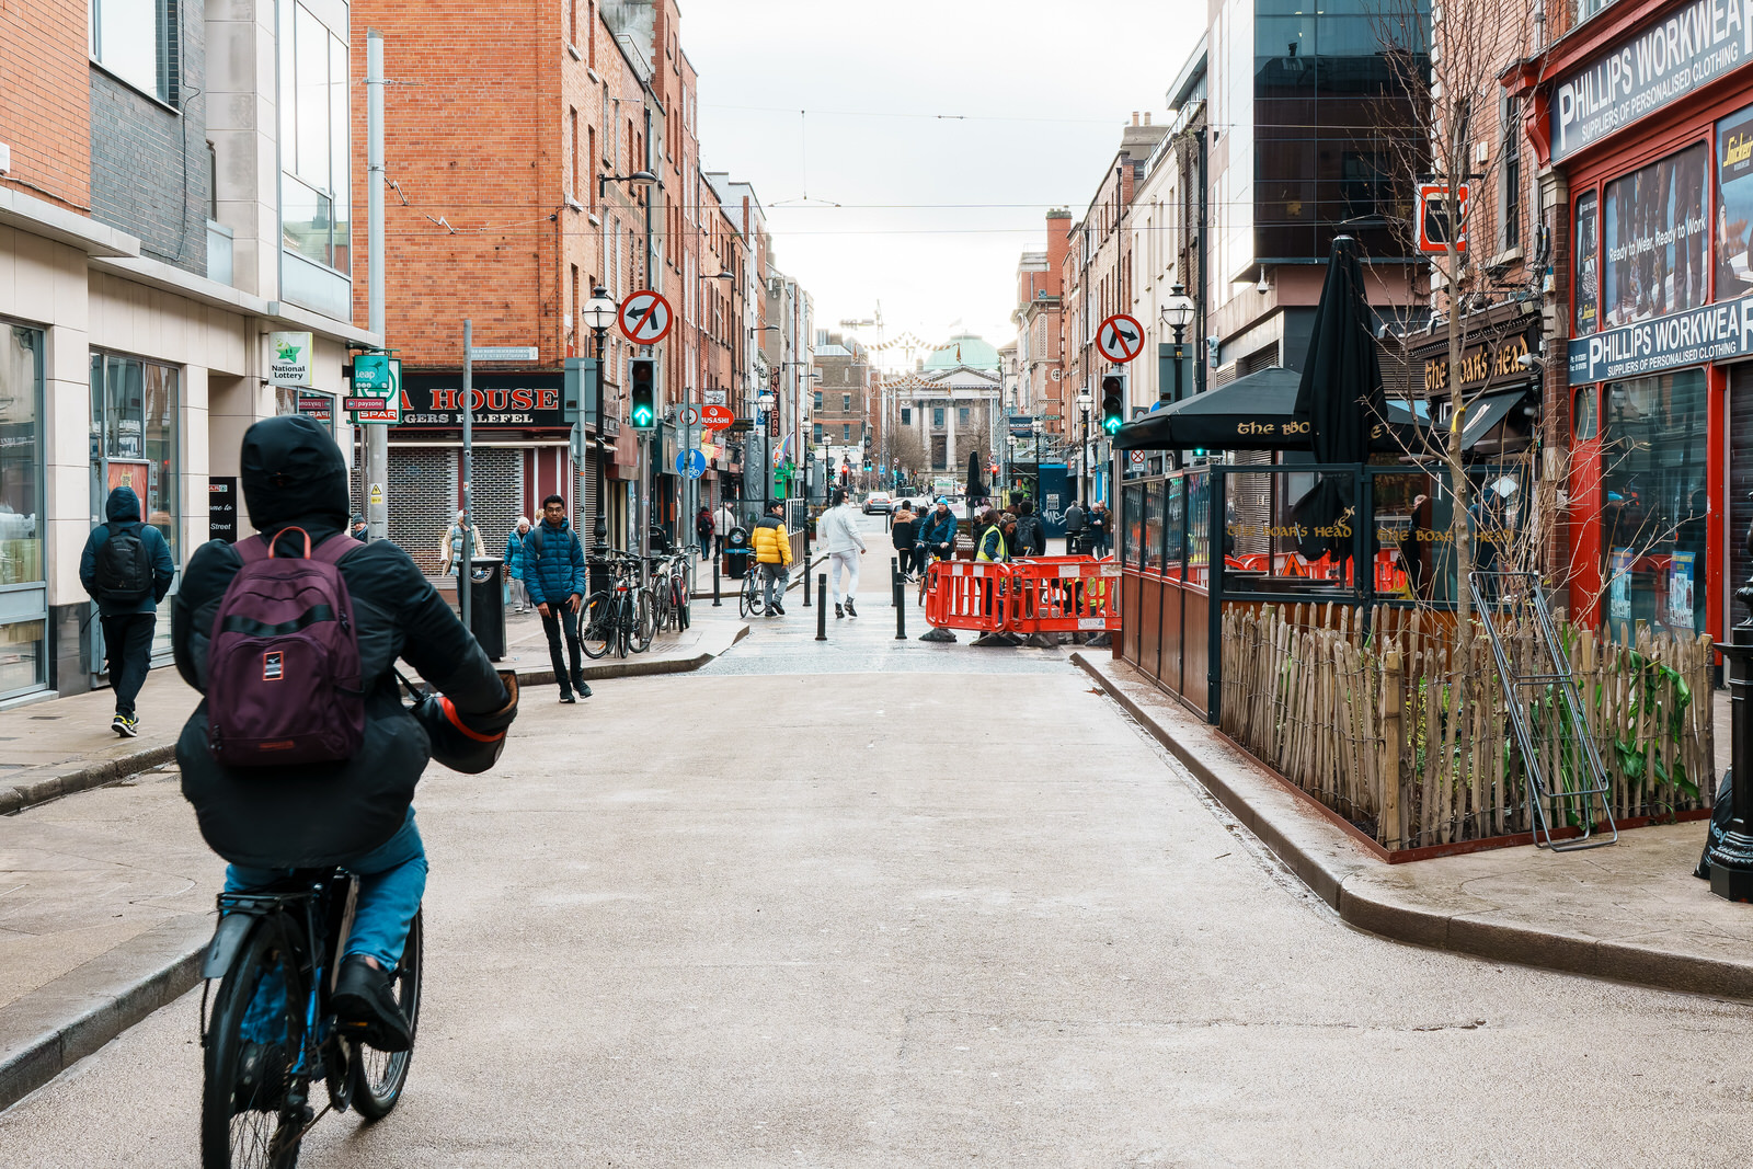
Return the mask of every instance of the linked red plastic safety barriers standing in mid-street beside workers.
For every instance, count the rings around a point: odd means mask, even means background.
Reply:
[[[926,570],[926,622],[1020,634],[1118,629],[1120,566],[1092,556],[934,561]]]

